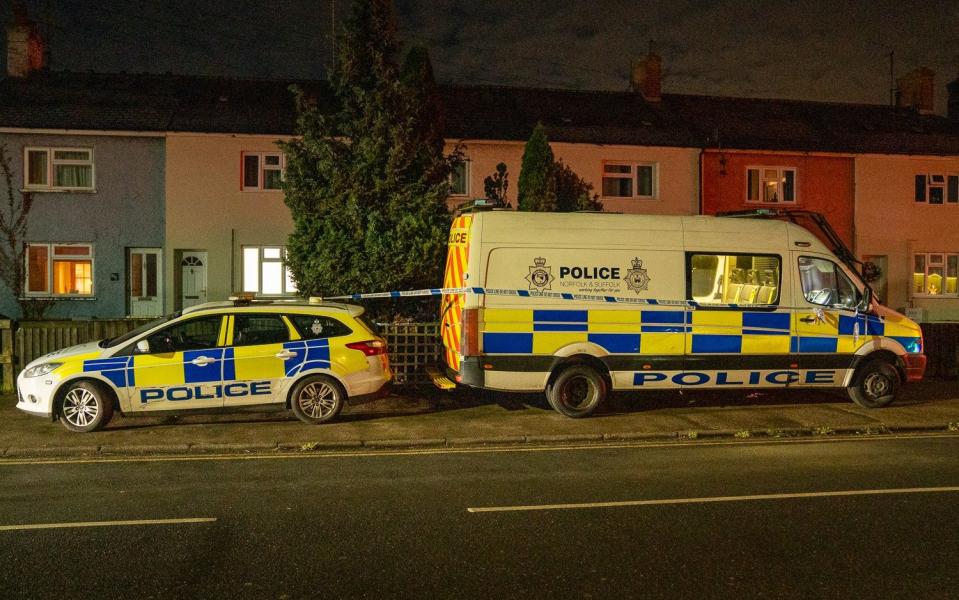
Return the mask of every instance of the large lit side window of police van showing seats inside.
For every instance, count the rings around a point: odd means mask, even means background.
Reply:
[[[775,254],[686,255],[687,300],[708,308],[779,304],[782,259]]]

